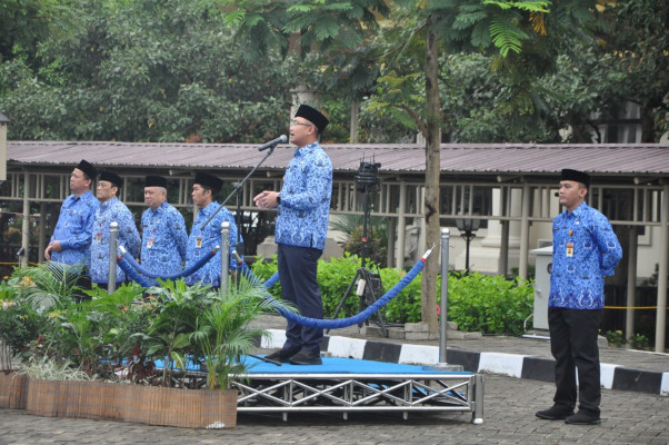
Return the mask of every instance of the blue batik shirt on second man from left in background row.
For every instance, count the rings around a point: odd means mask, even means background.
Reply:
[[[114,221],[119,225],[118,245],[123,246],[132,255],[132,258],[139,256],[141,241],[132,212],[117,197],[100,204],[96,211],[91,243],[90,276],[93,283],[107,284],[109,281],[109,240],[111,236],[109,225]],[[116,263],[116,258],[112,258],[112,261]],[[116,283],[124,280],[126,273],[117,267]]]

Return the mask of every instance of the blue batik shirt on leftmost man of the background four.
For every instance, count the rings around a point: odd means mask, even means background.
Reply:
[[[88,263],[96,210],[100,201],[88,190],[79,197],[70,195],[60,207],[51,241],[60,241],[62,251],[51,251],[51,260],[69,265]]]

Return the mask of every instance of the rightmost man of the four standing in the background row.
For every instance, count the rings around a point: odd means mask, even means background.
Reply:
[[[234,217],[227,208],[222,208],[202,230],[202,224],[209,219],[219,204],[218,194],[223,186],[223,181],[216,176],[198,172],[192,186],[192,201],[198,207],[190,236],[188,237],[188,248],[186,250],[186,268],[194,265],[201,257],[207,255],[216,246],[222,246],[221,224],[230,222],[230,265],[229,270],[237,269],[237,260],[232,255],[237,244],[237,225]],[[221,253],[220,250],[204,266],[186,277],[186,284],[192,286],[197,283],[220,287],[221,283]]]

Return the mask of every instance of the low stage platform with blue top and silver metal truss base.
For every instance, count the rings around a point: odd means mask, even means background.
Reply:
[[[253,365],[236,382],[239,413],[411,412],[471,413],[483,423],[483,376],[421,366],[324,357],[318,366],[277,366],[244,357]]]

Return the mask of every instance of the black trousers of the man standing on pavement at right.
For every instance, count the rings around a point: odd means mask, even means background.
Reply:
[[[579,407],[599,413],[601,384],[597,335],[601,309],[548,308],[550,350],[556,358],[557,405],[576,407],[577,372]]]

